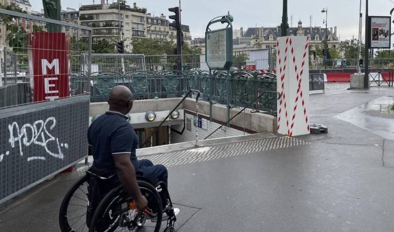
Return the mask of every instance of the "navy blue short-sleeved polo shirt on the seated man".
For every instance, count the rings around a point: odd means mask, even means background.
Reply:
[[[129,153],[133,165],[137,165],[138,137],[126,115],[107,111],[98,117],[87,131],[87,141],[93,146],[93,165],[115,170],[113,156]]]

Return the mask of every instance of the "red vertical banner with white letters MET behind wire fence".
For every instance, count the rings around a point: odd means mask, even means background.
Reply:
[[[69,45],[65,33],[29,34],[29,68],[33,101],[70,96]]]

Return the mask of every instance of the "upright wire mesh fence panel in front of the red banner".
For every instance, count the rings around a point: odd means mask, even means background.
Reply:
[[[73,95],[70,76],[83,73],[85,80],[78,84],[89,92],[92,28],[3,9],[0,20],[7,25],[0,86],[29,83],[29,101],[53,100]]]

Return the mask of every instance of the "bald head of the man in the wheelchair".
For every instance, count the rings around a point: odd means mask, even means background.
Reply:
[[[109,110],[128,113],[133,107],[133,93],[126,86],[115,86],[109,92]]]

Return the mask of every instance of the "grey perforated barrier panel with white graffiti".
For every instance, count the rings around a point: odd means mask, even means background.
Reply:
[[[0,203],[87,155],[89,95],[0,109]]]

